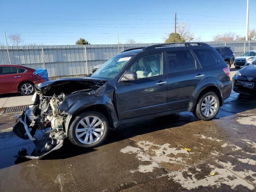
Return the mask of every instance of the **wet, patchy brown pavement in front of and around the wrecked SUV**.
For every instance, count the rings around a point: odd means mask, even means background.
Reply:
[[[103,146],[68,140],[42,160],[0,115],[0,191],[256,191],[256,99],[232,92],[211,121],[190,112],[134,122],[110,131]],[[185,149],[186,148],[186,149]]]

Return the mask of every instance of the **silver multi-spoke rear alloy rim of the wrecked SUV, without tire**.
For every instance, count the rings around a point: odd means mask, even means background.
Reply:
[[[213,95],[208,95],[204,98],[201,104],[202,114],[206,117],[213,116],[218,108],[217,99]]]

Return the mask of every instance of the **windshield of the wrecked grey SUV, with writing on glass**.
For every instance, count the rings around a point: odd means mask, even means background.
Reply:
[[[116,55],[105,62],[91,77],[114,78],[134,55]]]

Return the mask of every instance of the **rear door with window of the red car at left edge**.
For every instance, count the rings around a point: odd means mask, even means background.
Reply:
[[[16,67],[0,67],[0,93],[18,92],[23,74]]]

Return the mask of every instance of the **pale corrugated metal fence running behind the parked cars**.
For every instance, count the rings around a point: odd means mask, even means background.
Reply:
[[[256,50],[256,41],[206,42],[218,47],[228,46],[240,56],[245,51]],[[249,48],[250,44],[250,48]],[[8,46],[11,64],[24,64],[33,68],[46,68],[50,77],[91,73],[94,66],[103,64],[123,50],[150,46],[148,44],[110,45],[44,45]],[[0,46],[0,64],[9,64],[6,46]]]

